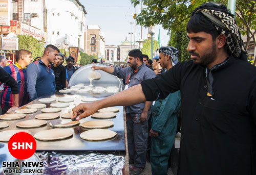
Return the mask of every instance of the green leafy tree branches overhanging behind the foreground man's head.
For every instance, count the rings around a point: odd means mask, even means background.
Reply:
[[[190,18],[191,12],[198,6],[208,2],[206,0],[131,0],[134,6],[143,2],[145,5],[139,15],[135,15],[138,24],[144,27],[150,27],[154,24],[161,24],[162,27],[168,31],[172,31],[172,39],[170,43],[175,44],[174,41],[184,39],[185,27]],[[215,0],[217,3],[226,5],[226,0]],[[256,44],[256,8],[255,1],[237,0],[236,3],[236,20],[243,35],[247,36],[247,41],[253,40]],[[180,35],[179,32],[184,32],[182,38],[175,38]],[[186,55],[183,52],[185,45],[183,43],[181,55]],[[247,42],[246,48],[248,48]],[[180,52],[181,52],[180,51]],[[254,61],[255,63],[255,61]]]

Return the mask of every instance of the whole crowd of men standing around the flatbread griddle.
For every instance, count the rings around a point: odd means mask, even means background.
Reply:
[[[148,135],[152,174],[167,174],[180,117],[178,174],[255,175],[256,68],[247,62],[237,22],[224,5],[209,2],[193,11],[186,30],[191,61],[178,63],[178,49],[168,46],[151,61],[134,49],[127,67],[93,65],[123,79],[124,91],[76,106],[72,118],[125,106],[131,174],[145,168]],[[14,65],[0,67],[4,113],[65,88],[77,69],[73,57],[62,66],[65,56],[53,45],[33,63],[31,55],[20,50]]]

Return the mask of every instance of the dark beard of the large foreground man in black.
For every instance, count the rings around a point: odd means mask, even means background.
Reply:
[[[210,51],[205,53],[204,55],[199,56],[199,54],[194,51],[191,51],[190,54],[195,54],[200,58],[200,61],[197,62],[196,64],[206,66],[216,60],[216,56],[217,56],[216,44],[215,42],[213,42]]]

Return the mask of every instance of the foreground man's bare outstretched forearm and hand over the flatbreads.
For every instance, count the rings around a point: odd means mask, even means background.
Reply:
[[[84,117],[94,114],[101,108],[111,106],[131,106],[145,102],[146,98],[141,85],[133,86],[127,90],[111,95],[94,103],[81,103],[72,109],[73,117],[80,120]]]

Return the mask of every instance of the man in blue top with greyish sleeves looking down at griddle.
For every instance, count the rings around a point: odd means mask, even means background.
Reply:
[[[38,61],[28,65],[27,88],[30,101],[56,91],[55,75],[51,63],[57,58],[59,49],[54,45],[47,45],[44,55]]]

